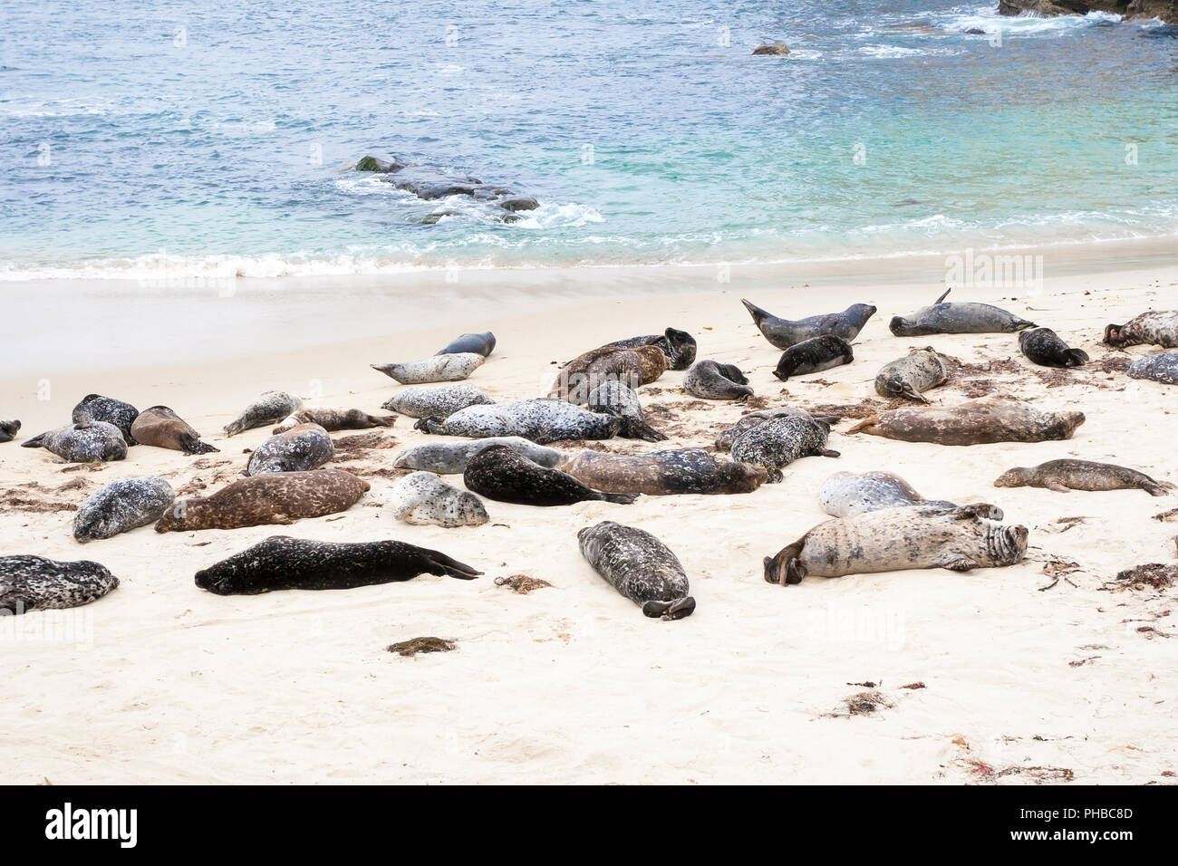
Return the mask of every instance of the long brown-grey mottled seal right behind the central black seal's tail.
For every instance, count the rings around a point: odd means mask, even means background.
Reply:
[[[581,451],[560,469],[595,490],[649,496],[750,494],[781,481],[779,469],[736,463],[702,448],[635,455]]]

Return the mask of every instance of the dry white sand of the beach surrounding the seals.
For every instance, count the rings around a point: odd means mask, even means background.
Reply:
[[[502,284],[510,275],[464,279]],[[554,271],[527,279],[568,287],[574,278]],[[60,312],[55,349],[33,365],[9,368],[19,377],[0,383],[0,416],[24,422],[18,441],[67,423],[73,404],[94,391],[139,408],[171,405],[221,452],[197,468],[197,458],[138,447],[126,461],[92,472],[68,471],[44,450],[0,445],[0,551],[93,558],[121,580],[88,607],[0,622],[0,781],[1019,784],[1063,779],[1064,771],[1080,782],[1170,781],[1162,775],[1178,772],[1178,642],[1164,636],[1174,634],[1170,600],[1101,586],[1134,564],[1173,562],[1176,524],[1151,517],[1178,507],[1178,496],[1065,495],[991,482],[1012,465],[1059,457],[1117,462],[1178,481],[1171,414],[1178,389],[1094,369],[1076,372],[1076,384],[1047,388],[1012,335],[892,337],[893,315],[940,293],[935,272],[919,285],[832,279],[820,291],[790,286],[795,280],[772,270],[749,276],[734,269],[733,282],[720,286],[708,269],[642,279],[646,293],[624,302],[609,297],[630,289],[627,277],[613,273],[597,299],[565,297],[561,306],[529,315],[518,315],[518,303],[494,313],[487,304],[458,308],[446,325],[428,329],[417,324],[431,309],[428,300],[413,318],[389,293],[358,292],[348,302],[353,320],[364,323],[357,332],[371,335],[388,322],[391,336],[313,348],[300,341],[234,357],[240,341],[226,345],[211,328],[188,335],[174,355],[157,348],[133,364],[133,332],[118,326],[106,332],[121,355],[67,358],[71,333],[80,341],[94,333]],[[960,289],[952,297],[1000,303],[1099,361],[1113,355],[1099,345],[1106,323],[1151,306],[1172,309],[1176,285],[1178,269],[1150,267],[1048,279],[1035,297]],[[659,291],[663,297],[651,293]],[[483,292],[484,300],[494,297]],[[856,343],[852,365],[782,386],[770,375],[779,352],[757,333],[740,297],[793,316],[853,302],[875,303],[880,312]],[[330,299],[320,303],[335,309]],[[241,332],[233,311],[244,304],[232,304],[224,306],[224,333]],[[313,305],[304,306],[315,315]],[[329,319],[343,320],[338,310]],[[183,330],[180,320],[171,326]],[[398,386],[369,363],[423,357],[462,331],[496,332],[498,349],[470,382],[508,399],[545,392],[557,370],[552,362],[667,325],[695,333],[701,358],[752,370],[756,394],[774,405],[874,397],[880,364],[909,346],[933,345],[973,363],[1015,358],[1023,369],[1017,376],[967,378],[993,378],[998,392],[1047,409],[1080,409],[1087,423],[1066,442],[946,448],[841,435],[851,425],[845,422],[830,438],[840,460],[799,461],[783,483],[750,495],[548,509],[488,502],[491,523],[449,530],[392,520],[380,504],[393,480],[382,476],[369,476],[372,490],[343,516],[277,530],[160,535],[146,527],[86,546],[71,535],[72,513],[12,505],[14,496],[78,503],[100,484],[150,472],[174,487],[199,477],[216,489],[245,465],[241,450],[269,435],[269,428],[232,439],[220,434],[257,394],[287,389],[312,397],[309,404],[376,411]],[[340,339],[338,329],[324,332]],[[674,416],[670,442],[615,439],[607,447],[708,447],[746,411],[721,402],[684,409],[690,398],[679,391],[681,379],[668,372],[641,391],[648,409],[664,406]],[[48,388],[49,399],[38,399],[39,388],[42,396]],[[964,389],[953,382],[928,396],[955,403],[965,399]],[[413,431],[410,418],[380,435],[396,447],[339,465],[389,468],[402,447],[432,438]],[[999,504],[1007,522],[1030,528],[1027,561],[967,574],[765,583],[762,557],[826,518],[816,504],[822,481],[838,470],[869,469],[898,471],[931,498]],[[84,489],[52,493],[77,478]],[[446,481],[461,484],[461,476]],[[31,483],[40,490],[20,487]],[[1074,516],[1086,520],[1064,531],[1057,521]],[[648,620],[589,568],[576,531],[604,518],[640,525],[676,551],[699,603],[693,616]],[[274,534],[398,538],[443,550],[485,575],[229,597],[193,586],[198,569]],[[1079,570],[1040,591],[1054,580],[1043,573],[1050,557]],[[514,574],[552,587],[517,595],[495,586],[496,577]],[[51,624],[77,634],[47,634]],[[424,635],[451,639],[457,650],[415,659],[385,650]],[[880,683],[894,706],[848,716],[845,699],[869,690],[853,685],[867,681]],[[926,688],[901,688],[918,681]]]

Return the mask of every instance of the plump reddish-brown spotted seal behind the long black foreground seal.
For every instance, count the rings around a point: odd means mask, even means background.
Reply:
[[[285,525],[346,511],[368,490],[366,481],[343,469],[266,472],[234,481],[209,496],[173,503],[155,522],[155,531]]]

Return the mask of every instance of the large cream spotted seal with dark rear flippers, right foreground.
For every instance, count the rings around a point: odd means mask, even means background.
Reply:
[[[1027,550],[1026,527],[1006,527],[981,517],[993,505],[953,511],[913,505],[836,517],[819,523],[776,556],[765,557],[769,583],[800,583],[808,574],[842,577],[906,568],[1013,566]]]

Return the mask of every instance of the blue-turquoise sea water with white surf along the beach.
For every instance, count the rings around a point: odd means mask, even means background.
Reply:
[[[1178,233],[1178,38],[1158,24],[935,0],[216,6],[7,0],[0,278]],[[762,39],[794,53],[752,57]],[[542,206],[504,225],[421,201],[349,170],[368,153]]]

